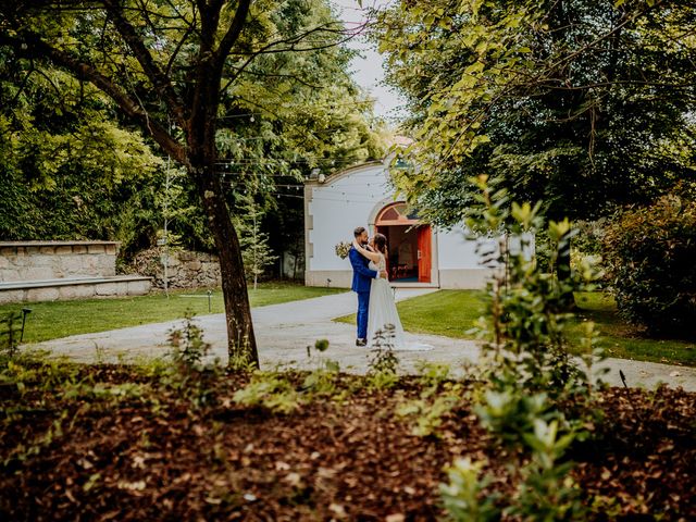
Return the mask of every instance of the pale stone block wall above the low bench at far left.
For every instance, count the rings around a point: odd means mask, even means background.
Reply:
[[[117,250],[114,241],[2,241],[0,283],[113,276]]]

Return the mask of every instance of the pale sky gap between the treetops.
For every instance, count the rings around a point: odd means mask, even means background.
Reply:
[[[358,5],[357,0],[331,0],[337,8],[340,18],[348,28],[356,27],[364,21],[364,13]],[[386,4],[386,0],[363,0],[363,5]],[[374,45],[356,38],[350,41],[349,47],[357,49],[362,54],[353,59],[351,63],[353,78],[362,88],[375,98],[374,111],[377,116],[395,123],[398,120],[398,107],[402,100],[396,92],[393,92],[384,80],[384,59],[376,51]]]

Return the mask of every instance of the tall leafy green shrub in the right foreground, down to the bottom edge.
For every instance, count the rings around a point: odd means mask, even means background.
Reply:
[[[483,463],[460,462],[449,469],[450,483],[440,487],[453,520],[584,520],[580,489],[562,458],[576,439],[587,437],[598,419],[593,410],[592,366],[601,352],[594,348],[594,325],[581,340],[586,371],[568,353],[568,313],[564,296],[592,288],[592,266],[567,278],[544,273],[531,254],[529,234],[542,228],[540,204],[508,204],[504,190],[492,188],[485,176],[472,181],[481,194],[468,220],[470,229],[500,236],[482,241],[484,263],[495,271],[488,285],[488,308],[478,335],[489,357],[474,406],[481,423],[509,445],[531,450],[531,461],[520,470],[512,498],[494,504],[484,499],[492,477],[480,480]],[[550,222],[548,239],[552,264],[569,248],[574,235],[568,220]]]

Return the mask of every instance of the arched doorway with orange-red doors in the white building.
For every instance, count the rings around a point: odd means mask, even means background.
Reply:
[[[433,268],[431,226],[421,224],[406,203],[386,206],[375,220],[376,232],[387,237],[387,271],[395,283],[431,283]]]

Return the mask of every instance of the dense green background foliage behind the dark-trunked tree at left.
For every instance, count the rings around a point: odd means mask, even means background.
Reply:
[[[154,66],[165,72],[165,83],[190,110],[200,13],[194,4],[166,2],[128,4],[125,12]],[[234,7],[223,9],[221,30],[233,14]],[[276,252],[303,249],[301,199],[285,197],[287,189],[276,182],[299,185],[315,166],[328,174],[384,154],[383,128],[373,121],[373,102],[348,74],[353,52],[341,45],[338,25],[324,0],[253,2],[238,52],[224,61],[221,102],[212,109],[220,116],[212,134],[219,160],[214,175],[233,214],[241,219],[245,196],[254,188],[260,219],[253,235],[272,236],[266,243]],[[154,34],[153,27],[166,29]],[[82,72],[51,64],[35,49],[27,55],[22,49],[28,46],[13,50],[10,39],[25,32],[87,64],[147,115],[126,117],[123,107]],[[306,34],[322,45],[311,48]],[[214,249],[199,187],[176,158],[163,161],[167,152],[153,152],[152,140],[133,125],[139,123],[149,134],[159,124],[182,146],[196,133],[184,132],[102,2],[3,2],[0,36],[2,238],[116,239],[129,259],[162,237],[167,220],[170,244],[178,236],[187,249]],[[291,46],[285,45],[288,39]],[[262,48],[269,52],[249,59]],[[248,271],[263,270],[270,261],[258,251],[253,259]]]

